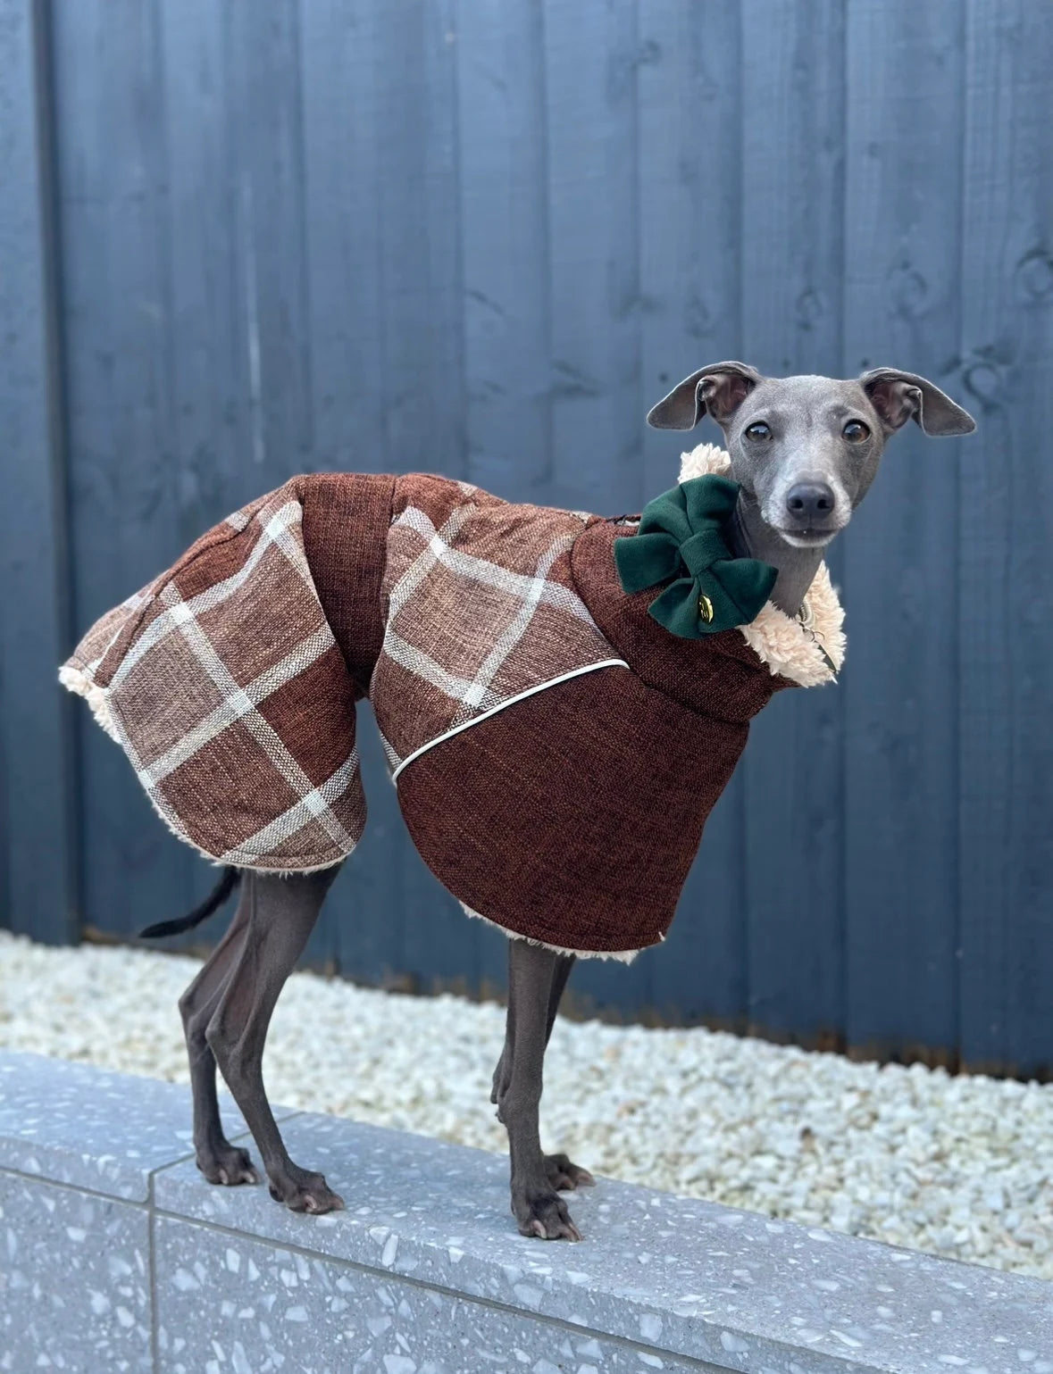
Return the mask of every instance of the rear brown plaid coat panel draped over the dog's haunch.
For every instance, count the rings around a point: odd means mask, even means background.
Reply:
[[[366,822],[355,688],[304,554],[300,481],[209,530],[73,654],[169,827],[224,863],[327,867]],[[96,706],[96,713],[99,708]]]

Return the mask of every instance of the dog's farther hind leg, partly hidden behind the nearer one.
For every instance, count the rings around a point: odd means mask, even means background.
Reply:
[[[250,882],[246,882],[227,933],[179,999],[194,1098],[194,1150],[198,1168],[209,1183],[260,1182],[249,1151],[231,1145],[223,1134],[220,1105],[216,1098],[216,1057],[205,1037],[208,1024],[223,995],[223,985],[245,940],[249,925],[249,888]]]

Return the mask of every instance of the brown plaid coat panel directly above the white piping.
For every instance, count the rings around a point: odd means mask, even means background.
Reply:
[[[370,690],[392,769],[521,692],[617,660],[570,574],[595,517],[422,475],[396,482],[395,511]]]

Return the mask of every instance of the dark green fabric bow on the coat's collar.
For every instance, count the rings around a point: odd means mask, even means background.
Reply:
[[[738,500],[727,477],[691,477],[656,496],[639,529],[614,540],[621,589],[642,592],[675,578],[647,609],[680,639],[748,625],[768,599],[778,572],[756,558],[733,558],[723,526]]]

